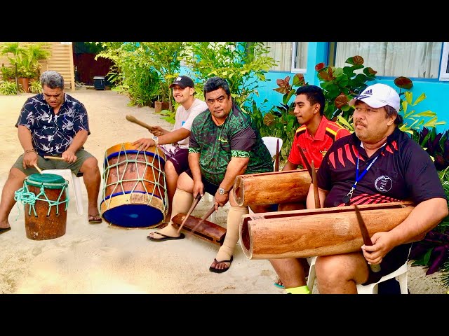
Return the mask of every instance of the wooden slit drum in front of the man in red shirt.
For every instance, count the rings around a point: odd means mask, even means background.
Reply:
[[[240,207],[305,202],[310,183],[307,169],[246,174],[236,176],[232,193]]]

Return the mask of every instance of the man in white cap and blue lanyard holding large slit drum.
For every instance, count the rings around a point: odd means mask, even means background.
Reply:
[[[388,232],[372,235],[362,251],[316,259],[319,293],[357,293],[356,284],[375,283],[408,259],[413,241],[424,238],[448,216],[441,181],[429,154],[398,129],[398,93],[374,84],[349,102],[354,106],[354,133],[335,141],[316,174],[321,207],[411,200],[413,211]],[[307,208],[314,209],[314,188]],[[373,272],[368,264],[380,264]]]

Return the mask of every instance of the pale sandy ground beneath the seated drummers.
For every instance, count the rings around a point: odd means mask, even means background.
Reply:
[[[105,151],[116,144],[132,142],[149,133],[125,119],[131,114],[150,125],[170,129],[172,125],[154,114],[154,109],[128,106],[129,99],[113,91],[68,92],[85,104],[91,135],[85,148],[98,158],[100,172]],[[27,97],[0,96],[0,188],[22,148],[14,127]],[[16,204],[9,221],[12,230],[0,235],[0,293],[269,293],[282,294],[273,286],[276,274],[267,260],[249,260],[236,247],[231,268],[222,274],[209,272],[218,246],[187,235],[179,241],[156,243],[147,235],[156,229],[116,228],[105,222],[87,221],[87,194],[83,189],[84,214],[76,214],[74,195],[67,210],[65,235],[32,240],[25,234],[22,204]],[[100,187],[101,198],[102,186]],[[196,216],[211,203],[203,197]],[[100,204],[100,202],[99,202]],[[217,214],[225,226],[227,207]],[[446,293],[440,274],[425,276],[422,267],[409,265],[410,293]],[[316,286],[314,288],[316,293]]]

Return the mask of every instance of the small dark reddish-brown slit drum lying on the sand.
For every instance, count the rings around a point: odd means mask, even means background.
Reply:
[[[177,214],[173,218],[171,218],[173,222],[173,228],[179,228],[185,216],[187,215]],[[182,226],[181,230],[185,230],[185,232],[191,235],[221,246],[223,244],[223,241],[225,241],[226,229],[210,221],[205,220],[202,223],[200,222],[201,218],[189,216],[189,218],[187,218],[187,221]]]

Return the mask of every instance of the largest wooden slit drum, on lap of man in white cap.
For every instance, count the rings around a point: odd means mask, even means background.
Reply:
[[[370,236],[401,224],[411,202],[359,205]],[[243,215],[241,248],[248,259],[307,258],[361,251],[353,206]]]

